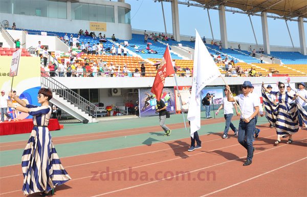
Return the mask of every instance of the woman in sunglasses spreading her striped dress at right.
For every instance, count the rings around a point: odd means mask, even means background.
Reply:
[[[295,100],[295,96],[300,95],[290,95],[284,83],[278,82],[278,92],[270,91],[265,87],[264,82],[262,82],[262,98],[264,100],[264,104],[266,107],[267,118],[269,122],[275,126],[277,133],[277,140],[275,144],[280,143],[280,137],[288,137],[287,144],[291,144],[293,142],[292,135],[296,134],[299,129],[298,126],[298,116],[297,111],[299,110],[302,113],[302,118],[304,121],[307,121],[307,113],[298,105],[293,102],[290,103],[289,99]],[[266,95],[265,91],[269,94],[273,94],[278,98],[278,104],[274,104]]]

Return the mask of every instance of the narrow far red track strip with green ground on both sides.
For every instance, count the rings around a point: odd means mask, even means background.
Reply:
[[[221,119],[222,118],[202,120],[201,125],[220,123]],[[238,117],[233,118],[233,120],[236,120],[236,119],[239,119],[239,118]],[[184,123],[167,124],[167,126],[170,129],[179,129],[179,128],[184,128]],[[157,125],[157,126],[148,126],[148,127],[141,127],[141,128],[113,130],[111,132],[98,132],[98,133],[91,133],[91,134],[54,137],[52,138],[52,141],[54,144],[66,144],[66,143],[73,143],[73,142],[99,140],[99,139],[105,139],[105,138],[131,136],[131,135],[137,135],[137,134],[146,134],[149,132],[161,132],[161,127]],[[51,135],[52,135],[52,132],[51,132]],[[0,151],[25,148],[27,142],[28,141],[0,143]]]

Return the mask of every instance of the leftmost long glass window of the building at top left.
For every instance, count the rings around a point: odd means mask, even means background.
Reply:
[[[0,12],[67,18],[67,2],[60,0],[0,0]]]

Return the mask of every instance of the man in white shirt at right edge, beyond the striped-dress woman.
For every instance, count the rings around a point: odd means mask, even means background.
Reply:
[[[288,79],[287,82],[288,82],[288,85],[291,87],[291,89],[302,97],[302,98],[296,97],[297,102],[304,108],[305,111],[307,111],[307,91],[305,90],[306,84],[304,82],[300,82],[298,84],[298,89],[295,89],[295,86],[290,84],[290,79]],[[298,124],[300,128],[303,126],[302,117],[299,111],[298,111]]]

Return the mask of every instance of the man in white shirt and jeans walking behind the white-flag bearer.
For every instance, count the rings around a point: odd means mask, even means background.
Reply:
[[[224,89],[224,91],[225,91],[225,95],[227,95],[228,90]],[[224,139],[228,138],[229,127],[233,130],[234,136],[236,136],[238,134],[238,129],[231,122],[231,118],[233,116],[233,106],[235,108],[236,115],[239,116],[240,113],[237,110],[237,106],[236,106],[235,102],[229,102],[227,100],[227,97],[225,96],[222,100],[221,106],[218,107],[218,109],[216,111],[216,115],[217,115],[218,112],[220,112],[220,110],[222,110],[222,108],[224,107],[224,118],[226,120],[226,125],[225,125],[224,135],[223,135]]]

